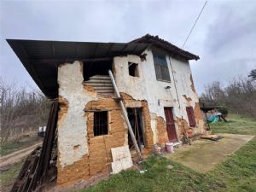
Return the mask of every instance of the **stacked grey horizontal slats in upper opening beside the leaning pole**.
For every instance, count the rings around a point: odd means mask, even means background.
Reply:
[[[97,94],[113,96],[113,84],[108,75],[92,76],[90,80],[85,81],[84,84],[94,87]]]

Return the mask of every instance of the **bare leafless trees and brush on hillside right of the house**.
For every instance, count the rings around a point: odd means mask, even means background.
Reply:
[[[201,102],[206,106],[221,105],[232,113],[239,113],[256,118],[256,69],[248,77],[233,79],[223,86],[216,81],[205,87]]]

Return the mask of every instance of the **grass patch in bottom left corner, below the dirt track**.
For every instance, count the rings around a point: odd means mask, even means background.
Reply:
[[[12,166],[9,166],[9,169],[6,171],[2,171],[0,174],[0,183],[1,183],[1,191],[9,191],[13,183],[15,182],[15,178],[18,176],[21,166],[23,165],[23,161],[16,163]]]

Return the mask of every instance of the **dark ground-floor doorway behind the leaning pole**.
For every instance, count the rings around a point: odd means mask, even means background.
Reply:
[[[128,119],[130,120],[132,131],[140,148],[145,145],[142,109],[143,108],[127,108]],[[130,149],[135,148],[134,144],[132,143],[130,134],[128,134],[128,144]]]

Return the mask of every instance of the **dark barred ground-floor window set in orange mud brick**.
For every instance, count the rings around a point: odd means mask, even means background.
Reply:
[[[94,136],[108,135],[108,111],[94,113]]]

